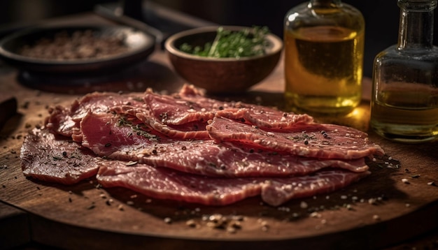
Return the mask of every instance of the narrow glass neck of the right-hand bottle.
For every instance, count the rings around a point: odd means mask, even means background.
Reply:
[[[433,46],[433,20],[437,0],[399,0],[398,47],[404,49]]]

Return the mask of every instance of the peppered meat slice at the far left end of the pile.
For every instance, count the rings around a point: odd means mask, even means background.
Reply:
[[[90,149],[37,128],[24,139],[20,159],[25,176],[62,184],[94,177],[99,161]]]

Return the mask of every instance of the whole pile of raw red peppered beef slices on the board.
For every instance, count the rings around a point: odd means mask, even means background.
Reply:
[[[366,177],[365,158],[383,153],[353,128],[185,85],[172,95],[96,92],[50,109],[20,159],[24,175],[47,182],[96,176],[154,198],[228,205],[261,196],[278,206]]]

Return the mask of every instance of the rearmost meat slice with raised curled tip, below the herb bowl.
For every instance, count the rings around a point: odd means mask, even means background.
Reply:
[[[172,96],[147,91],[144,98],[152,110],[152,115],[164,125],[181,125],[188,122],[204,122],[207,125],[206,122],[215,115],[248,119],[252,124],[268,128],[293,126],[297,122],[313,122],[309,115],[296,115],[262,105],[208,98],[188,84]]]

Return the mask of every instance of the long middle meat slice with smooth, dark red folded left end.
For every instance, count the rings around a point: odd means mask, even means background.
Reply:
[[[81,122],[83,146],[108,159],[147,163],[224,177],[306,175],[322,168],[368,170],[365,159],[320,160],[213,140],[174,140],[125,117],[90,112]]]

